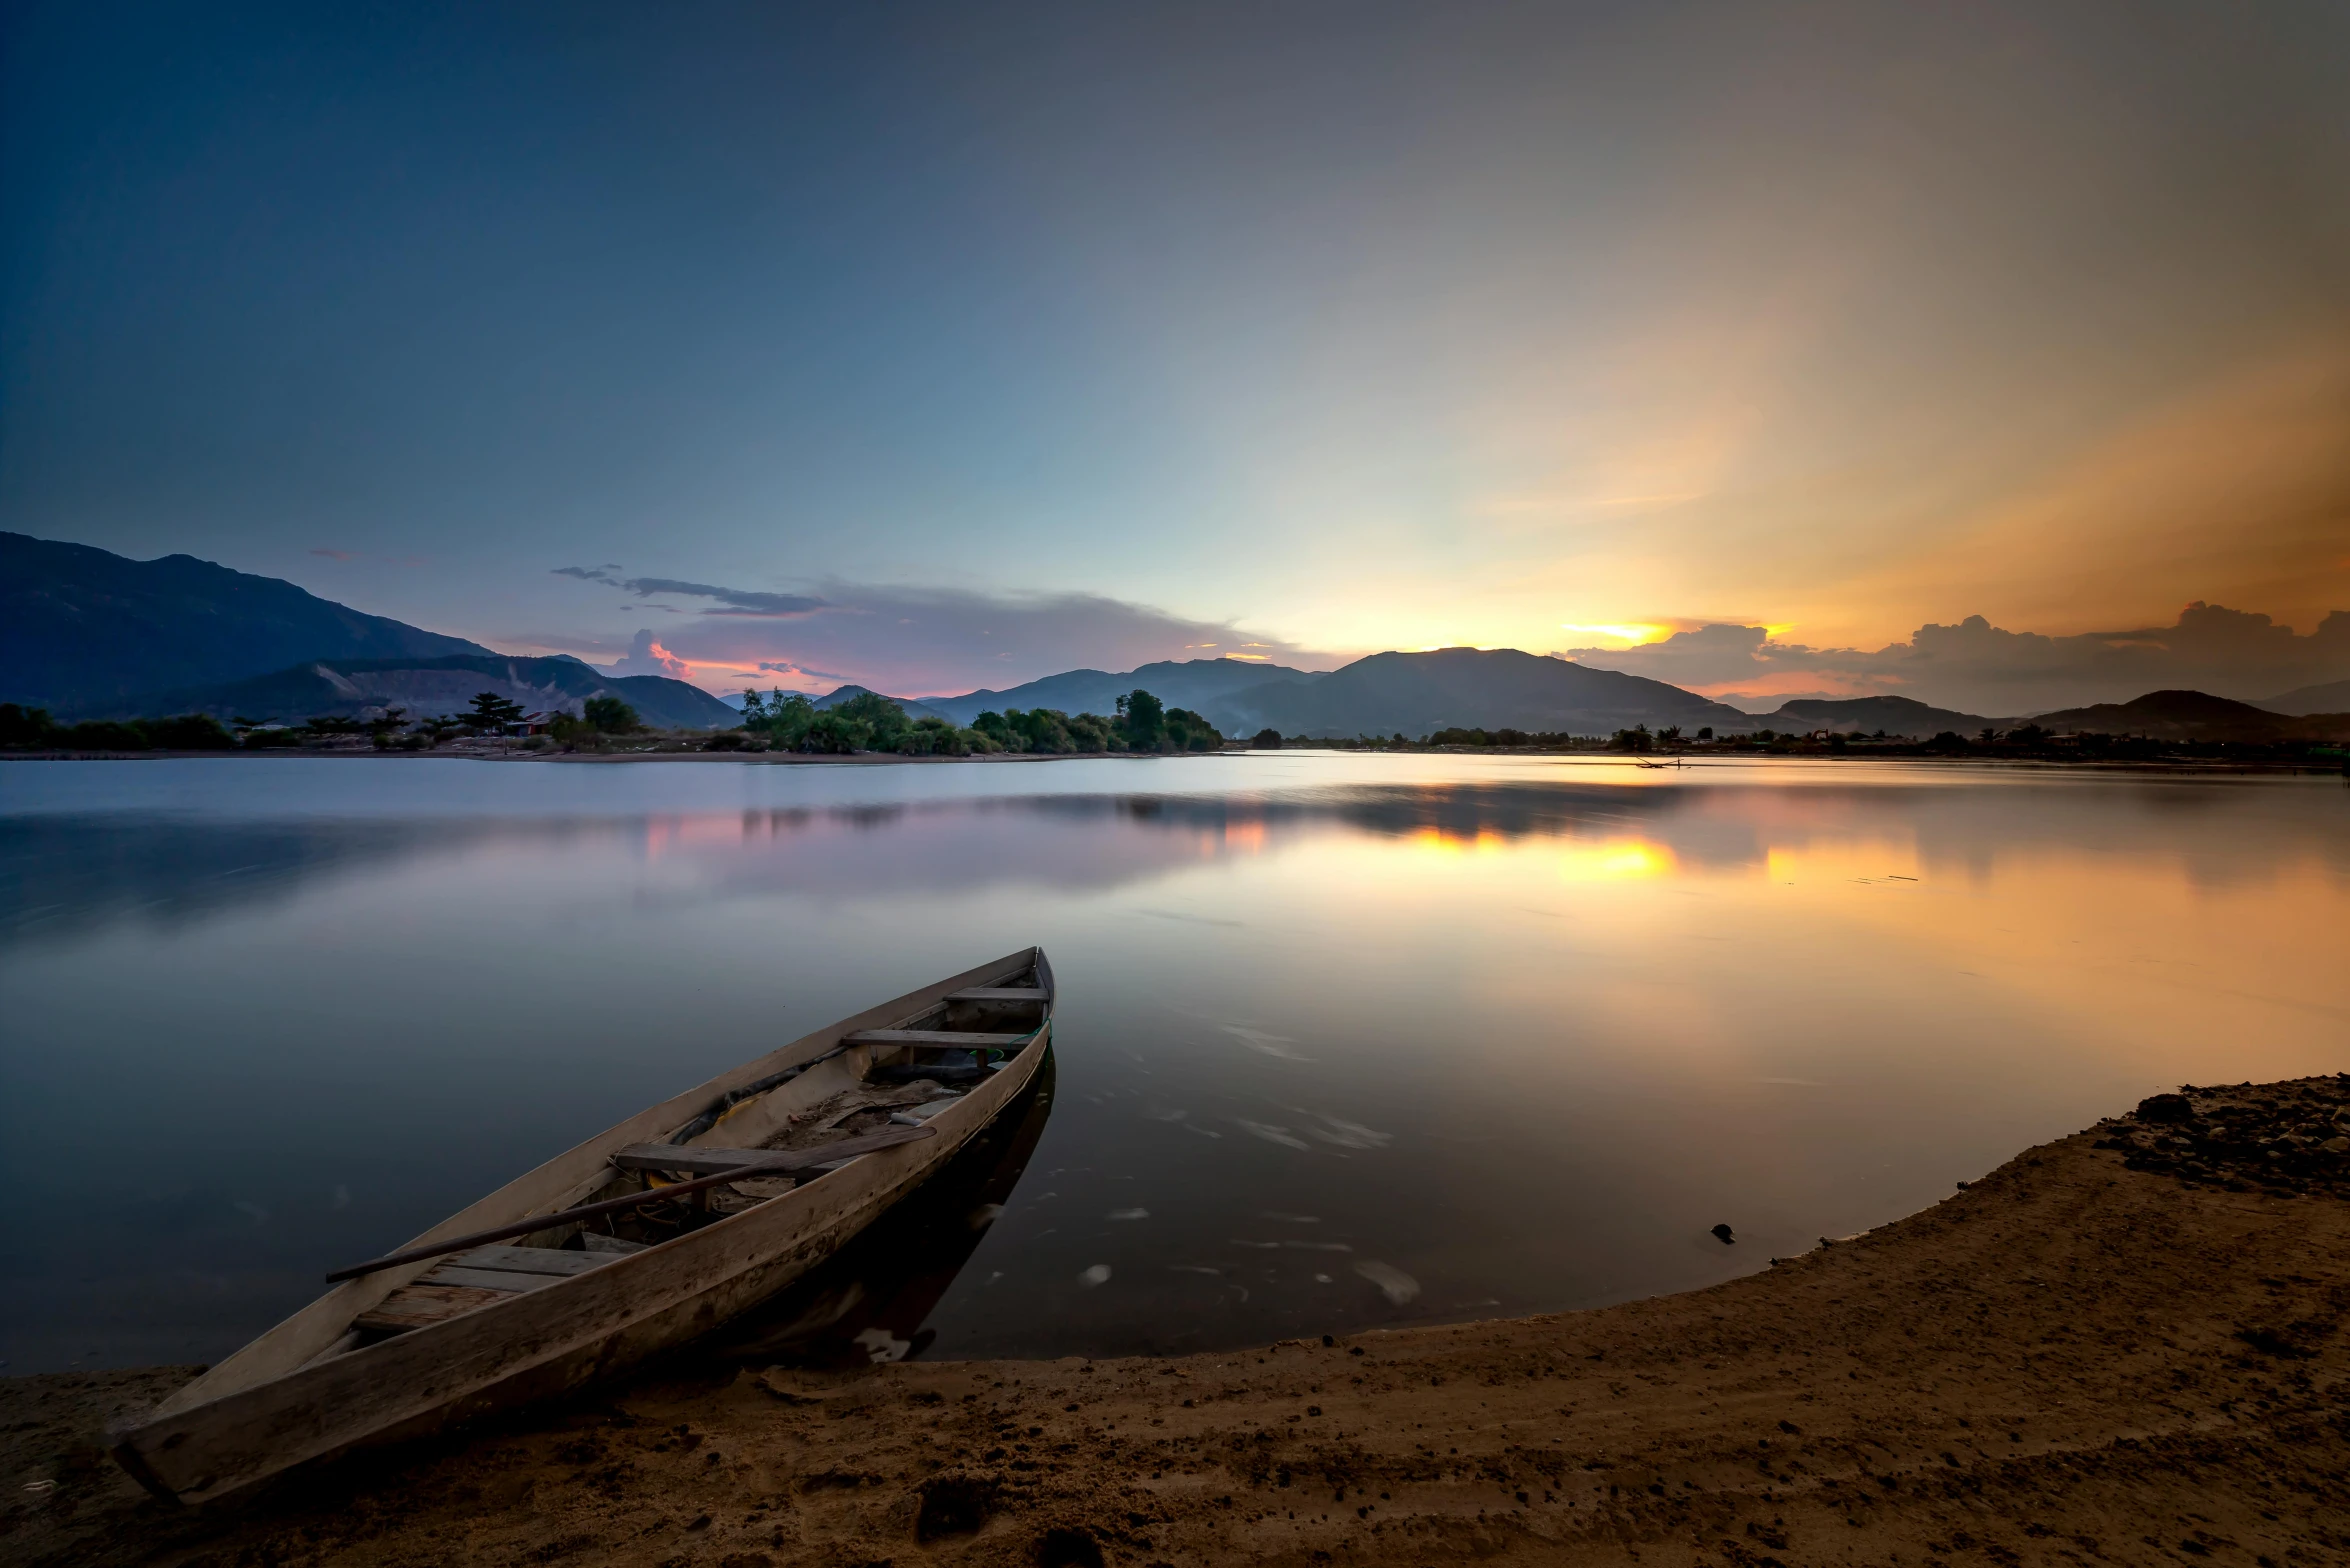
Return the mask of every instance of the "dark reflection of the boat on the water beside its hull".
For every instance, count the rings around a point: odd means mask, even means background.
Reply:
[[[931,1312],[980,1251],[1053,1114],[1046,1051],[1022,1098],[938,1175],[780,1295],[721,1328],[703,1356],[811,1368],[905,1361],[938,1340]]]

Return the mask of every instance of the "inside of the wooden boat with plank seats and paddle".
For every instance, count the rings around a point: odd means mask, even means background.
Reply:
[[[573,1192],[548,1227],[451,1251],[352,1319],[327,1354],[543,1291],[924,1138],[926,1121],[1022,1051],[1043,1048],[1050,1004],[1053,973],[1039,952],[996,985],[947,992],[886,1030],[841,1034],[830,1051],[719,1095],[667,1138],[616,1147],[602,1180]],[[801,1159],[778,1159],[787,1154]],[[714,1180],[747,1166],[764,1171]],[[646,1197],[665,1187],[682,1192]],[[613,1199],[634,1201],[576,1213]]]

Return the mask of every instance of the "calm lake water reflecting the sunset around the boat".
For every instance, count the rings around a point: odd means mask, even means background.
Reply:
[[[2345,933],[2315,776],[9,762],[0,1361],[219,1359],[637,1107],[1029,943],[1055,1081],[776,1342],[1685,1291],[2181,1081],[2350,1070]]]

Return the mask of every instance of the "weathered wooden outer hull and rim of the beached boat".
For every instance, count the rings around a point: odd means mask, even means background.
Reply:
[[[1010,959],[900,997],[712,1084],[726,1086],[728,1079],[745,1079],[750,1070],[773,1070],[778,1060],[792,1065],[794,1053],[818,1056],[830,1048],[830,1039],[867,1027],[865,1020],[874,1016],[888,1016],[898,1009],[914,1011],[933,994],[982,985],[1006,964]],[[120,1429],[115,1455],[150,1490],[181,1502],[209,1502],[247,1490],[296,1465],[369,1443],[423,1436],[548,1399],[698,1340],[787,1288],[919,1187],[1020,1095],[1048,1048],[1050,1023],[999,1072],[949,1110],[931,1117],[928,1126],[938,1131],[935,1138],[877,1150],[766,1204],[656,1248],[616,1258],[585,1274],[573,1274],[545,1291],[517,1295],[364,1349],[324,1354],[216,1396],[202,1396],[207,1389],[200,1380],[181,1396],[164,1401],[143,1422]],[[703,1091],[707,1088],[703,1086]],[[693,1091],[693,1095],[703,1091]],[[691,1103],[693,1095],[682,1095],[658,1110],[674,1110]],[[644,1117],[611,1128],[583,1150],[634,1143],[639,1124]],[[540,1171],[562,1166],[578,1154],[573,1150],[571,1157],[550,1161]],[[526,1182],[529,1178],[522,1178],[512,1187]],[[482,1204],[468,1208],[465,1215],[435,1227],[425,1239],[449,1232],[479,1211]],[[524,1206],[517,1218],[536,1211],[540,1206]],[[421,1267],[428,1265],[414,1265],[400,1274],[411,1276]],[[376,1284],[364,1295],[381,1298],[388,1288],[395,1286]],[[324,1298],[315,1307],[322,1305]],[[345,1300],[343,1307],[350,1302]],[[273,1335],[301,1326],[301,1319],[303,1314],[296,1314]],[[310,1333],[315,1335],[320,1328],[310,1326]],[[263,1335],[251,1349],[263,1347],[268,1338]],[[221,1371],[228,1366],[223,1363]]]

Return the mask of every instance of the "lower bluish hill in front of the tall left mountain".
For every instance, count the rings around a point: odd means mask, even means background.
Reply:
[[[665,675],[604,675],[578,658],[315,658],[270,675],[214,686],[179,686],[110,703],[99,717],[209,712],[221,719],[357,717],[367,708],[407,708],[411,719],[463,712],[477,691],[496,691],[538,712],[578,712],[592,696],[616,696],[656,729],[733,729],[743,715],[700,686]]]

